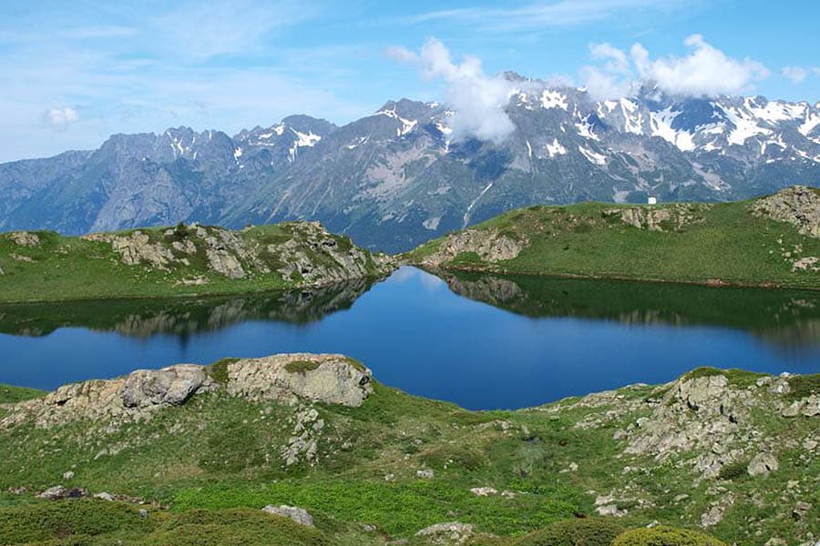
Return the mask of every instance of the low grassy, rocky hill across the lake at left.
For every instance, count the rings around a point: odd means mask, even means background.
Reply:
[[[139,298],[318,287],[379,278],[391,258],[318,223],[232,231],[199,224],[95,233],[0,234],[0,299]]]

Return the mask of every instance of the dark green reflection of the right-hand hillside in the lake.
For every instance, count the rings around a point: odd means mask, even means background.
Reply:
[[[471,271],[448,271],[443,278],[456,294],[528,317],[709,324],[747,330],[780,345],[814,342],[815,324],[820,321],[820,293],[814,290],[715,288]]]

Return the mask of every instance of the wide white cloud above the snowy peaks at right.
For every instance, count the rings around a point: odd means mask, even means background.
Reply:
[[[606,63],[603,68],[585,66],[582,76],[590,93],[599,98],[624,94],[643,83],[654,83],[670,95],[733,95],[753,89],[754,82],[769,76],[763,64],[727,56],[702,35],[691,35],[684,44],[692,48],[689,55],[655,59],[641,44],[632,45],[629,55],[609,44],[591,45],[591,55]]]

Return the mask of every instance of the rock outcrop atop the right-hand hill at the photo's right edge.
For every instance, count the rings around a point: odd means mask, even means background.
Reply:
[[[786,222],[809,237],[820,238],[820,192],[805,186],[786,187],[754,201],[753,214]]]

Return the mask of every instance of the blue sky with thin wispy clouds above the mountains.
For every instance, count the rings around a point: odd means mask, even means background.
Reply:
[[[342,124],[390,98],[442,100],[446,77],[421,77],[423,55],[397,60],[431,38],[456,67],[475,56],[487,75],[515,70],[578,86],[590,71],[616,84],[641,77],[636,43],[652,74],[685,72],[706,47],[717,66],[737,69],[737,92],[815,103],[817,21],[820,3],[808,0],[6,0],[0,161],[93,148],[118,132],[234,134],[295,113]],[[702,38],[686,45],[692,35]],[[727,77],[712,75],[715,88]]]

